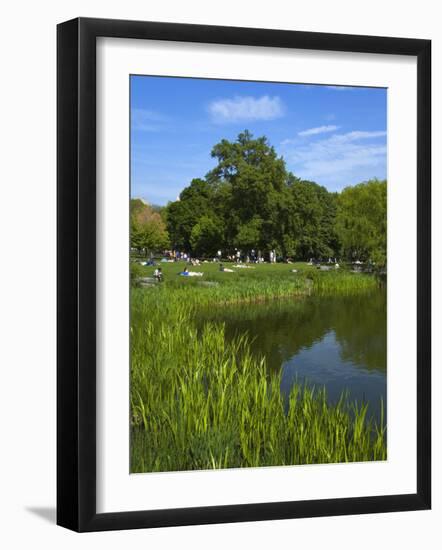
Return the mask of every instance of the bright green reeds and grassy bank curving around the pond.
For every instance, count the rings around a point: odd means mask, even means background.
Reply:
[[[386,458],[385,429],[366,406],[295,385],[250,352],[245,337],[226,341],[222,325],[197,332],[207,305],[374,288],[371,276],[263,265],[222,273],[217,264],[162,264],[164,282],[131,292],[131,471],[314,464]],[[291,269],[298,269],[292,273]],[[149,276],[152,267],[144,268]]]

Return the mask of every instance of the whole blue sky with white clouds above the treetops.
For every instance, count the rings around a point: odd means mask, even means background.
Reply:
[[[132,197],[176,200],[244,129],[331,191],[386,178],[386,89],[132,76]]]

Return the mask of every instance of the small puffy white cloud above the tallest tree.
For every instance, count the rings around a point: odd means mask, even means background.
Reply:
[[[284,114],[284,105],[278,96],[236,96],[213,101],[209,113],[217,123],[272,120]]]

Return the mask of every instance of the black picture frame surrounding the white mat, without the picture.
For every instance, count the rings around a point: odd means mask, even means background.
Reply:
[[[96,512],[96,39],[417,58],[417,492]],[[83,531],[424,510],[431,506],[431,41],[79,18],[57,28],[57,523]]]

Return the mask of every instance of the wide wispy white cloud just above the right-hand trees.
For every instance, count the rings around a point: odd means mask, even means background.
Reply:
[[[297,176],[321,183],[354,183],[362,171],[372,177],[386,164],[386,132],[353,131],[309,142],[281,142],[284,157]],[[381,139],[382,138],[382,139]]]

